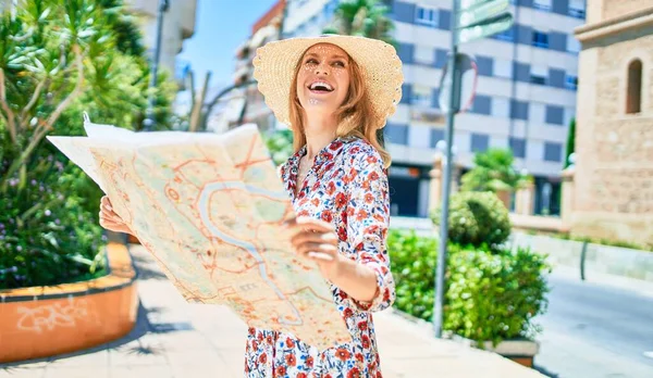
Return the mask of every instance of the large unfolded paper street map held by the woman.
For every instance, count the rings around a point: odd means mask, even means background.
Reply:
[[[317,265],[291,248],[293,206],[256,125],[85,129],[48,140],[102,188],[186,301],[226,304],[250,327],[320,349],[352,340]]]

